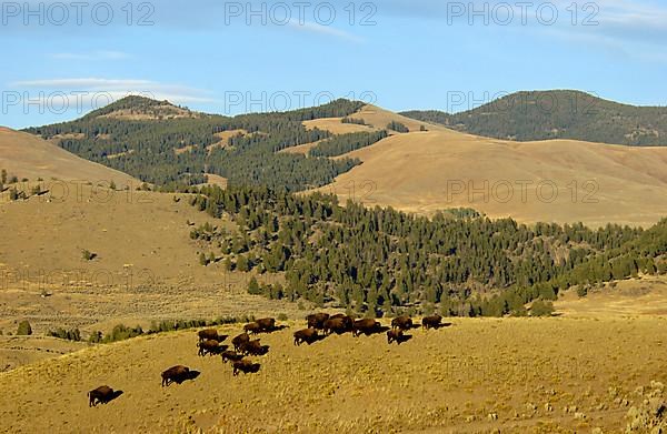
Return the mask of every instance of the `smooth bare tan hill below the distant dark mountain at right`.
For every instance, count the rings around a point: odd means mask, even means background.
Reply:
[[[369,205],[421,214],[464,206],[591,226],[648,226],[667,213],[665,148],[517,143],[441,130],[396,134],[347,157],[364,164],[321,190]]]

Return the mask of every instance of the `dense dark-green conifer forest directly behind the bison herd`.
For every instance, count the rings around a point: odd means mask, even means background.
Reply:
[[[517,224],[470,214],[432,219],[338,204],[332,195],[205,188],[191,204],[238,232],[201,226],[191,238],[227,269],[285,273],[287,284],[249,291],[300,297],[360,313],[399,306],[450,315],[525,314],[524,304],[561,290],[665,273],[667,222],[643,231],[608,225]],[[202,253],[202,264],[208,258]],[[260,279],[261,281],[261,279]]]

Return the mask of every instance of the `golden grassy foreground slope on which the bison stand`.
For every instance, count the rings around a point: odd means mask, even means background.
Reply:
[[[153,335],[0,374],[0,430],[619,432],[636,388],[667,380],[666,325],[661,317],[455,320],[415,330],[400,346],[344,335],[295,347],[299,323],[262,336],[270,352],[253,357],[259,373],[238,377],[219,357],[197,357],[193,331]],[[160,372],[175,364],[201,374],[162,388]],[[102,384],[125,394],[89,408],[86,393]]]

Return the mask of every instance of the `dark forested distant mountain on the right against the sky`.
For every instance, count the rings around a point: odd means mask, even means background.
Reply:
[[[636,147],[667,145],[667,108],[635,107],[573,90],[517,92],[461,113],[407,111],[424,122],[496,139],[574,139]]]

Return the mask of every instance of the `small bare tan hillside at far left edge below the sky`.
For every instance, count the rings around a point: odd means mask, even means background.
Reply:
[[[117,186],[139,185],[132,176],[83,160],[32,134],[0,129],[0,169],[19,179],[113,181]]]

